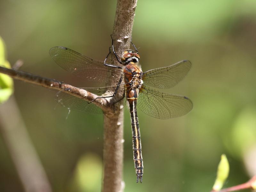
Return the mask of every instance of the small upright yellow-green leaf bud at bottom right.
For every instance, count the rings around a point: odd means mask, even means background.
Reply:
[[[228,159],[225,154],[222,154],[220,163],[218,166],[217,178],[212,187],[212,189],[214,191],[219,191],[223,187],[223,184],[225,183],[226,179],[228,178],[228,173],[229,173]]]

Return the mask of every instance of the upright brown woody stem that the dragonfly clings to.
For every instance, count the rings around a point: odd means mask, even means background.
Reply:
[[[112,38],[119,58],[130,46],[136,5],[137,0],[117,0]],[[119,65],[113,54],[110,59]],[[122,177],[124,124],[123,110],[120,111],[119,107],[122,104],[122,102],[116,103],[115,113],[109,112],[104,115],[103,192],[122,192],[124,189]]]

